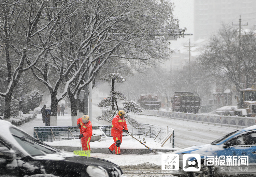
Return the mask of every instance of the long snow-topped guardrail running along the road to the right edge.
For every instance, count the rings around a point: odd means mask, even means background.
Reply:
[[[256,125],[255,117],[206,115],[206,114],[193,114],[193,113],[157,111],[157,110],[143,110],[143,112],[139,114],[170,117],[170,118],[183,119],[187,121],[196,121],[196,122],[221,125],[221,126],[249,127],[249,126]]]

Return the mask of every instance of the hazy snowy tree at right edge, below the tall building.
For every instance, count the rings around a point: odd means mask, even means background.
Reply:
[[[240,36],[240,37],[239,37]],[[227,76],[237,90],[251,87],[256,82],[256,37],[255,31],[242,32],[223,26],[210,38],[199,60],[214,76]]]

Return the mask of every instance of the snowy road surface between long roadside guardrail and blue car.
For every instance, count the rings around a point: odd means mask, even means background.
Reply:
[[[186,120],[162,118],[157,116],[132,115],[140,123],[168,126],[174,129],[175,147],[186,148],[208,144],[234,130],[233,127],[214,126]]]

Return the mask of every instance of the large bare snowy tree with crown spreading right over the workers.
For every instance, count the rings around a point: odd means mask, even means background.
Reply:
[[[82,10],[70,23],[74,24],[70,29],[75,28],[74,35],[79,38],[70,40],[72,46],[66,47],[72,49],[70,53],[86,60],[84,65],[82,60],[77,62],[67,80],[69,82],[76,76],[68,87],[72,116],[76,116],[76,102],[81,90],[95,79],[105,63],[125,60],[117,67],[124,67],[125,63],[134,69],[142,69],[166,60],[166,39],[179,28],[177,19],[172,16],[173,4],[166,0],[147,3],[141,0],[92,0],[87,1]],[[75,41],[79,40],[82,42],[76,46]]]

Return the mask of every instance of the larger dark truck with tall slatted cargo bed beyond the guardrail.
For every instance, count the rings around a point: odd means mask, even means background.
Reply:
[[[195,96],[193,92],[174,92],[171,98],[172,111],[198,113],[200,101],[200,96]]]

